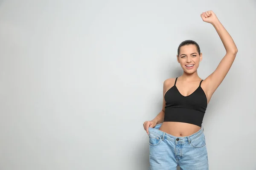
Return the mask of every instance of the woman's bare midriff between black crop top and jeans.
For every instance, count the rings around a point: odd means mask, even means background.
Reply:
[[[183,137],[192,135],[198,132],[198,130],[200,129],[201,127],[199,127],[198,125],[193,125],[189,123],[163,122],[159,130],[168,133],[172,136]]]

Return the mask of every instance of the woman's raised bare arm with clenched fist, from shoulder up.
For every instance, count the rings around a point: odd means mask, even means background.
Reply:
[[[218,88],[218,86],[221,84],[223,79],[226,77],[228,71],[231,68],[231,65],[236,58],[236,53],[238,52],[238,49],[232,37],[218,20],[217,16],[214,14],[213,11],[203,12],[201,14],[201,17],[204,22],[211,23],[212,26],[214,26],[219,37],[221,38],[224,48],[226,49],[226,55],[223,57],[223,59],[221,59],[221,62],[219,63],[216,70],[204,80],[204,84],[206,84],[205,92],[207,94],[207,97],[210,98],[215,90]]]

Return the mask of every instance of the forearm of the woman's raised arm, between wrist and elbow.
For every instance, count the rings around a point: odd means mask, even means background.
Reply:
[[[214,28],[216,29],[227,53],[236,54],[236,52],[237,52],[236,44],[233,41],[233,38],[230,36],[230,34],[227,32],[227,30],[221,24],[221,22],[219,20],[217,20],[215,23],[212,23],[212,26],[214,26]]]

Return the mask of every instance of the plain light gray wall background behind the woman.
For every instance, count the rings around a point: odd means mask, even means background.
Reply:
[[[256,170],[254,0],[0,0],[0,170],[147,170],[143,122],[195,40],[205,79],[239,49],[208,105],[210,170]]]

